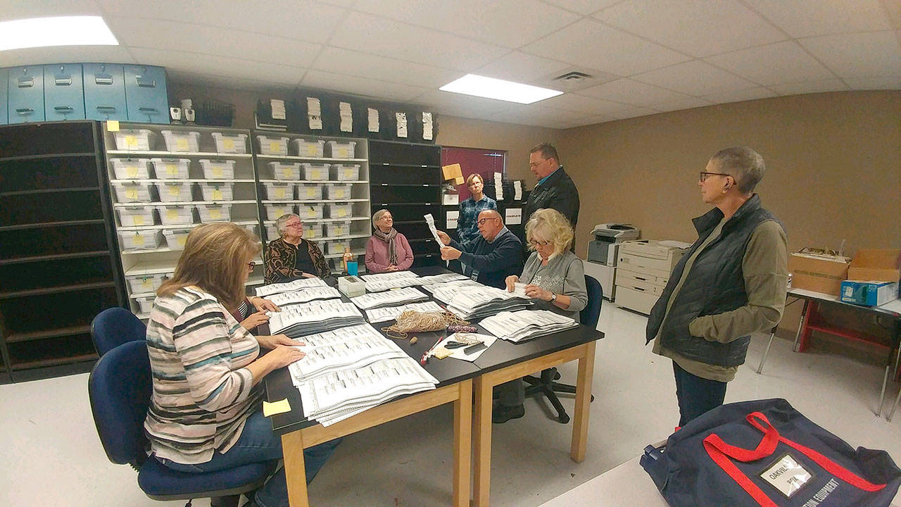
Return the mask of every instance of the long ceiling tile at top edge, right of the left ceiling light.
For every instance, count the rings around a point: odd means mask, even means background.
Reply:
[[[98,0],[105,13],[132,18],[208,24],[323,43],[347,16],[347,10],[311,0],[229,2],[218,0]],[[149,22],[145,22],[149,23]],[[206,51],[210,52],[210,51]]]

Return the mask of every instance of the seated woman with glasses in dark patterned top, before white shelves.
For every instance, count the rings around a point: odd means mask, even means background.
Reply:
[[[263,280],[281,283],[298,278],[323,277],[330,273],[322,250],[304,239],[304,223],[294,213],[276,220],[278,239],[266,246],[266,271]]]

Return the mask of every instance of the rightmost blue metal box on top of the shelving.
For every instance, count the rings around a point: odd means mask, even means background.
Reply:
[[[123,71],[129,121],[168,124],[166,69],[126,65]]]

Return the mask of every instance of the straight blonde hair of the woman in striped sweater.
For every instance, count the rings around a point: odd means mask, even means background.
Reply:
[[[225,308],[238,308],[246,298],[247,259],[259,255],[259,237],[231,222],[201,224],[187,235],[175,274],[164,281],[158,296],[196,286],[214,295]]]

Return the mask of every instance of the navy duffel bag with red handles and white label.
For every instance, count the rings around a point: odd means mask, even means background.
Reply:
[[[887,507],[901,484],[887,452],[854,450],[780,399],[710,410],[641,463],[671,507]]]

